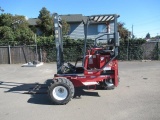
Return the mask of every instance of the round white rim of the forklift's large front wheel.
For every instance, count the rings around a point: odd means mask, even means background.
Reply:
[[[52,95],[57,100],[64,100],[68,96],[68,90],[63,86],[57,86],[53,89]]]

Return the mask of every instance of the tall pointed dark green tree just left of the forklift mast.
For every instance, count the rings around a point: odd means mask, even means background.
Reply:
[[[42,31],[42,35],[53,35],[53,18],[50,15],[50,12],[45,7],[40,10],[38,18],[39,20],[37,21],[37,24],[39,26],[39,29]]]

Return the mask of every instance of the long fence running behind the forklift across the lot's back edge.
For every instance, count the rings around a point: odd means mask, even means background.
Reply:
[[[64,45],[63,57],[65,62],[73,62],[83,55],[83,44]],[[160,43],[129,43],[123,42],[119,47],[119,60],[160,60]],[[26,63],[34,60],[55,62],[55,46],[0,46],[0,64]]]

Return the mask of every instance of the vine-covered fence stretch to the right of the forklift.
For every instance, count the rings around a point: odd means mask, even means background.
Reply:
[[[129,43],[124,42],[119,47],[119,60],[159,60],[160,43]]]

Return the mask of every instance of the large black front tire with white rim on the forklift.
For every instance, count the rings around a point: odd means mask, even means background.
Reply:
[[[74,86],[67,78],[56,78],[48,89],[48,94],[56,105],[67,104],[74,96]]]

